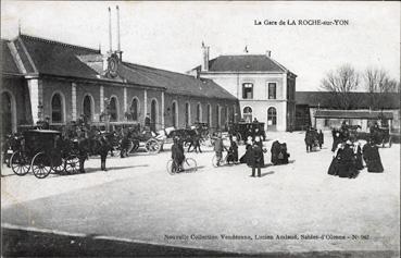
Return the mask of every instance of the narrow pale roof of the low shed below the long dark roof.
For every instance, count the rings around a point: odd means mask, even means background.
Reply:
[[[316,119],[393,119],[391,111],[316,110]]]

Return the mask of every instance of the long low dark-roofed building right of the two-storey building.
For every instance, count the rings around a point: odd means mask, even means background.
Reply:
[[[363,131],[375,122],[387,123],[392,131],[400,131],[400,94],[349,93],[348,97],[354,107],[341,109],[341,103],[327,91],[296,93],[296,128],[304,130],[315,126],[322,130],[339,127],[342,121],[360,125]],[[373,110],[372,100],[380,99],[380,109]],[[375,101],[377,102],[377,101]]]

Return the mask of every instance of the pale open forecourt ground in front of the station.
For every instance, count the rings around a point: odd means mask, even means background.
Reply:
[[[108,172],[91,159],[87,174],[45,180],[4,169],[2,226],[236,253],[399,251],[400,145],[380,149],[385,173],[349,180],[327,175],[328,134],[326,148],[312,153],[303,134],[268,136],[267,149],[272,139],[287,142],[291,162],[267,165],[261,179],[245,164],[213,168],[210,148],[188,155],[198,172],[174,176],[165,169],[170,151],[108,159]]]

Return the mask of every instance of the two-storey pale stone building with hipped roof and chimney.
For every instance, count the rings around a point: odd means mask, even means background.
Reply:
[[[254,118],[267,131],[288,131],[295,125],[297,75],[266,54],[220,56],[209,59],[209,47],[202,46],[200,66],[188,73],[213,79],[239,100],[238,114],[245,121]]]

